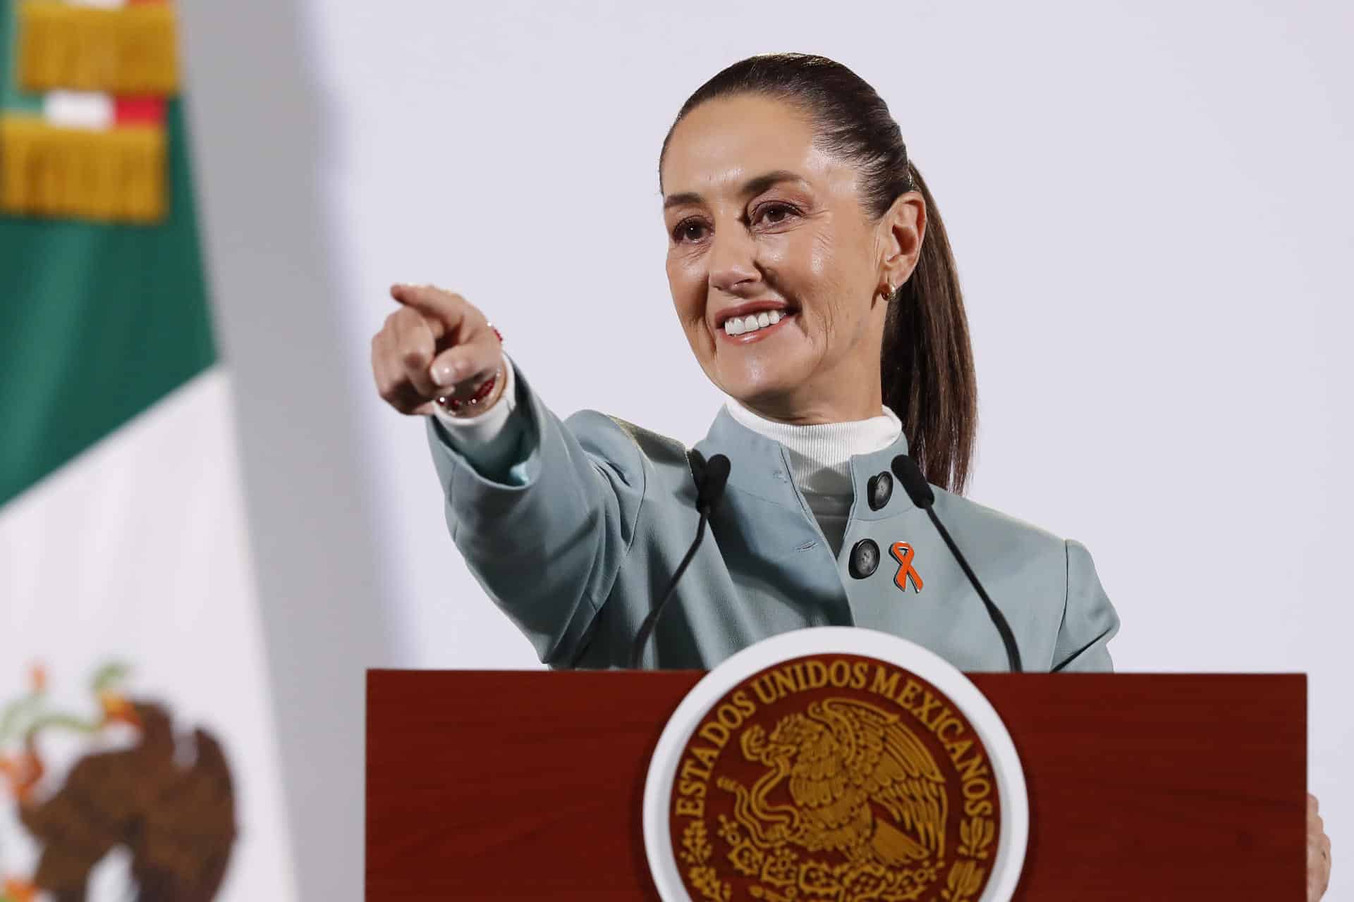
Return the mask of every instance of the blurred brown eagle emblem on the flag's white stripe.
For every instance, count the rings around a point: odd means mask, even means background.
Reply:
[[[118,663],[99,668],[92,717],[54,710],[42,668],[27,695],[0,706],[0,806],[14,805],[26,845],[38,852],[23,875],[0,855],[0,902],[110,898],[89,893],[91,874],[119,852],[131,886],[118,898],[217,897],[237,837],[225,749],[200,726],[177,734],[162,702],[127,695],[127,672]],[[122,729],[130,736],[108,736]],[[47,752],[69,752],[70,738],[88,748],[54,772]]]

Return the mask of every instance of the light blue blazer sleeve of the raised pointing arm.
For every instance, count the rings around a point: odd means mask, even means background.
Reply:
[[[567,665],[611,594],[645,499],[643,456],[596,411],[559,421],[516,372],[521,440],[481,473],[428,418],[447,526],[471,573],[542,663]]]

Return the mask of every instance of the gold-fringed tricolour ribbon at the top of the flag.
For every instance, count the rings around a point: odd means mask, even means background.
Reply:
[[[162,220],[165,101],[179,91],[173,7],[3,5],[0,214]]]

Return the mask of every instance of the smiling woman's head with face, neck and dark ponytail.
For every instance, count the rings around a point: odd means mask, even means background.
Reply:
[[[773,419],[864,421],[887,404],[927,477],[961,491],[976,387],[940,214],[877,93],[837,64],[777,60],[712,78],[663,142],[688,341],[716,385]],[[743,350],[764,334],[781,339]]]

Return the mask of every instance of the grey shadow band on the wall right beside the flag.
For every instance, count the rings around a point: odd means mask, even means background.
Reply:
[[[329,107],[306,70],[292,0],[188,0],[181,16],[206,266],[234,387],[299,898],[357,899],[364,668],[389,663],[393,642],[349,419],[356,404],[329,375],[343,341],[317,173],[332,146]]]

